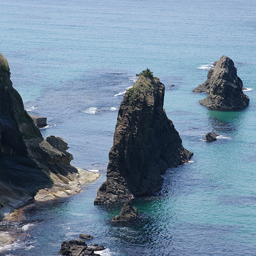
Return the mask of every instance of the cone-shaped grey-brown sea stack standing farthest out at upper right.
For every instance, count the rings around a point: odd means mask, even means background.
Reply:
[[[229,57],[223,55],[215,69],[209,72],[205,82],[209,93],[205,99],[199,100],[200,104],[215,110],[238,110],[248,106],[249,98],[242,91],[243,82]]]

